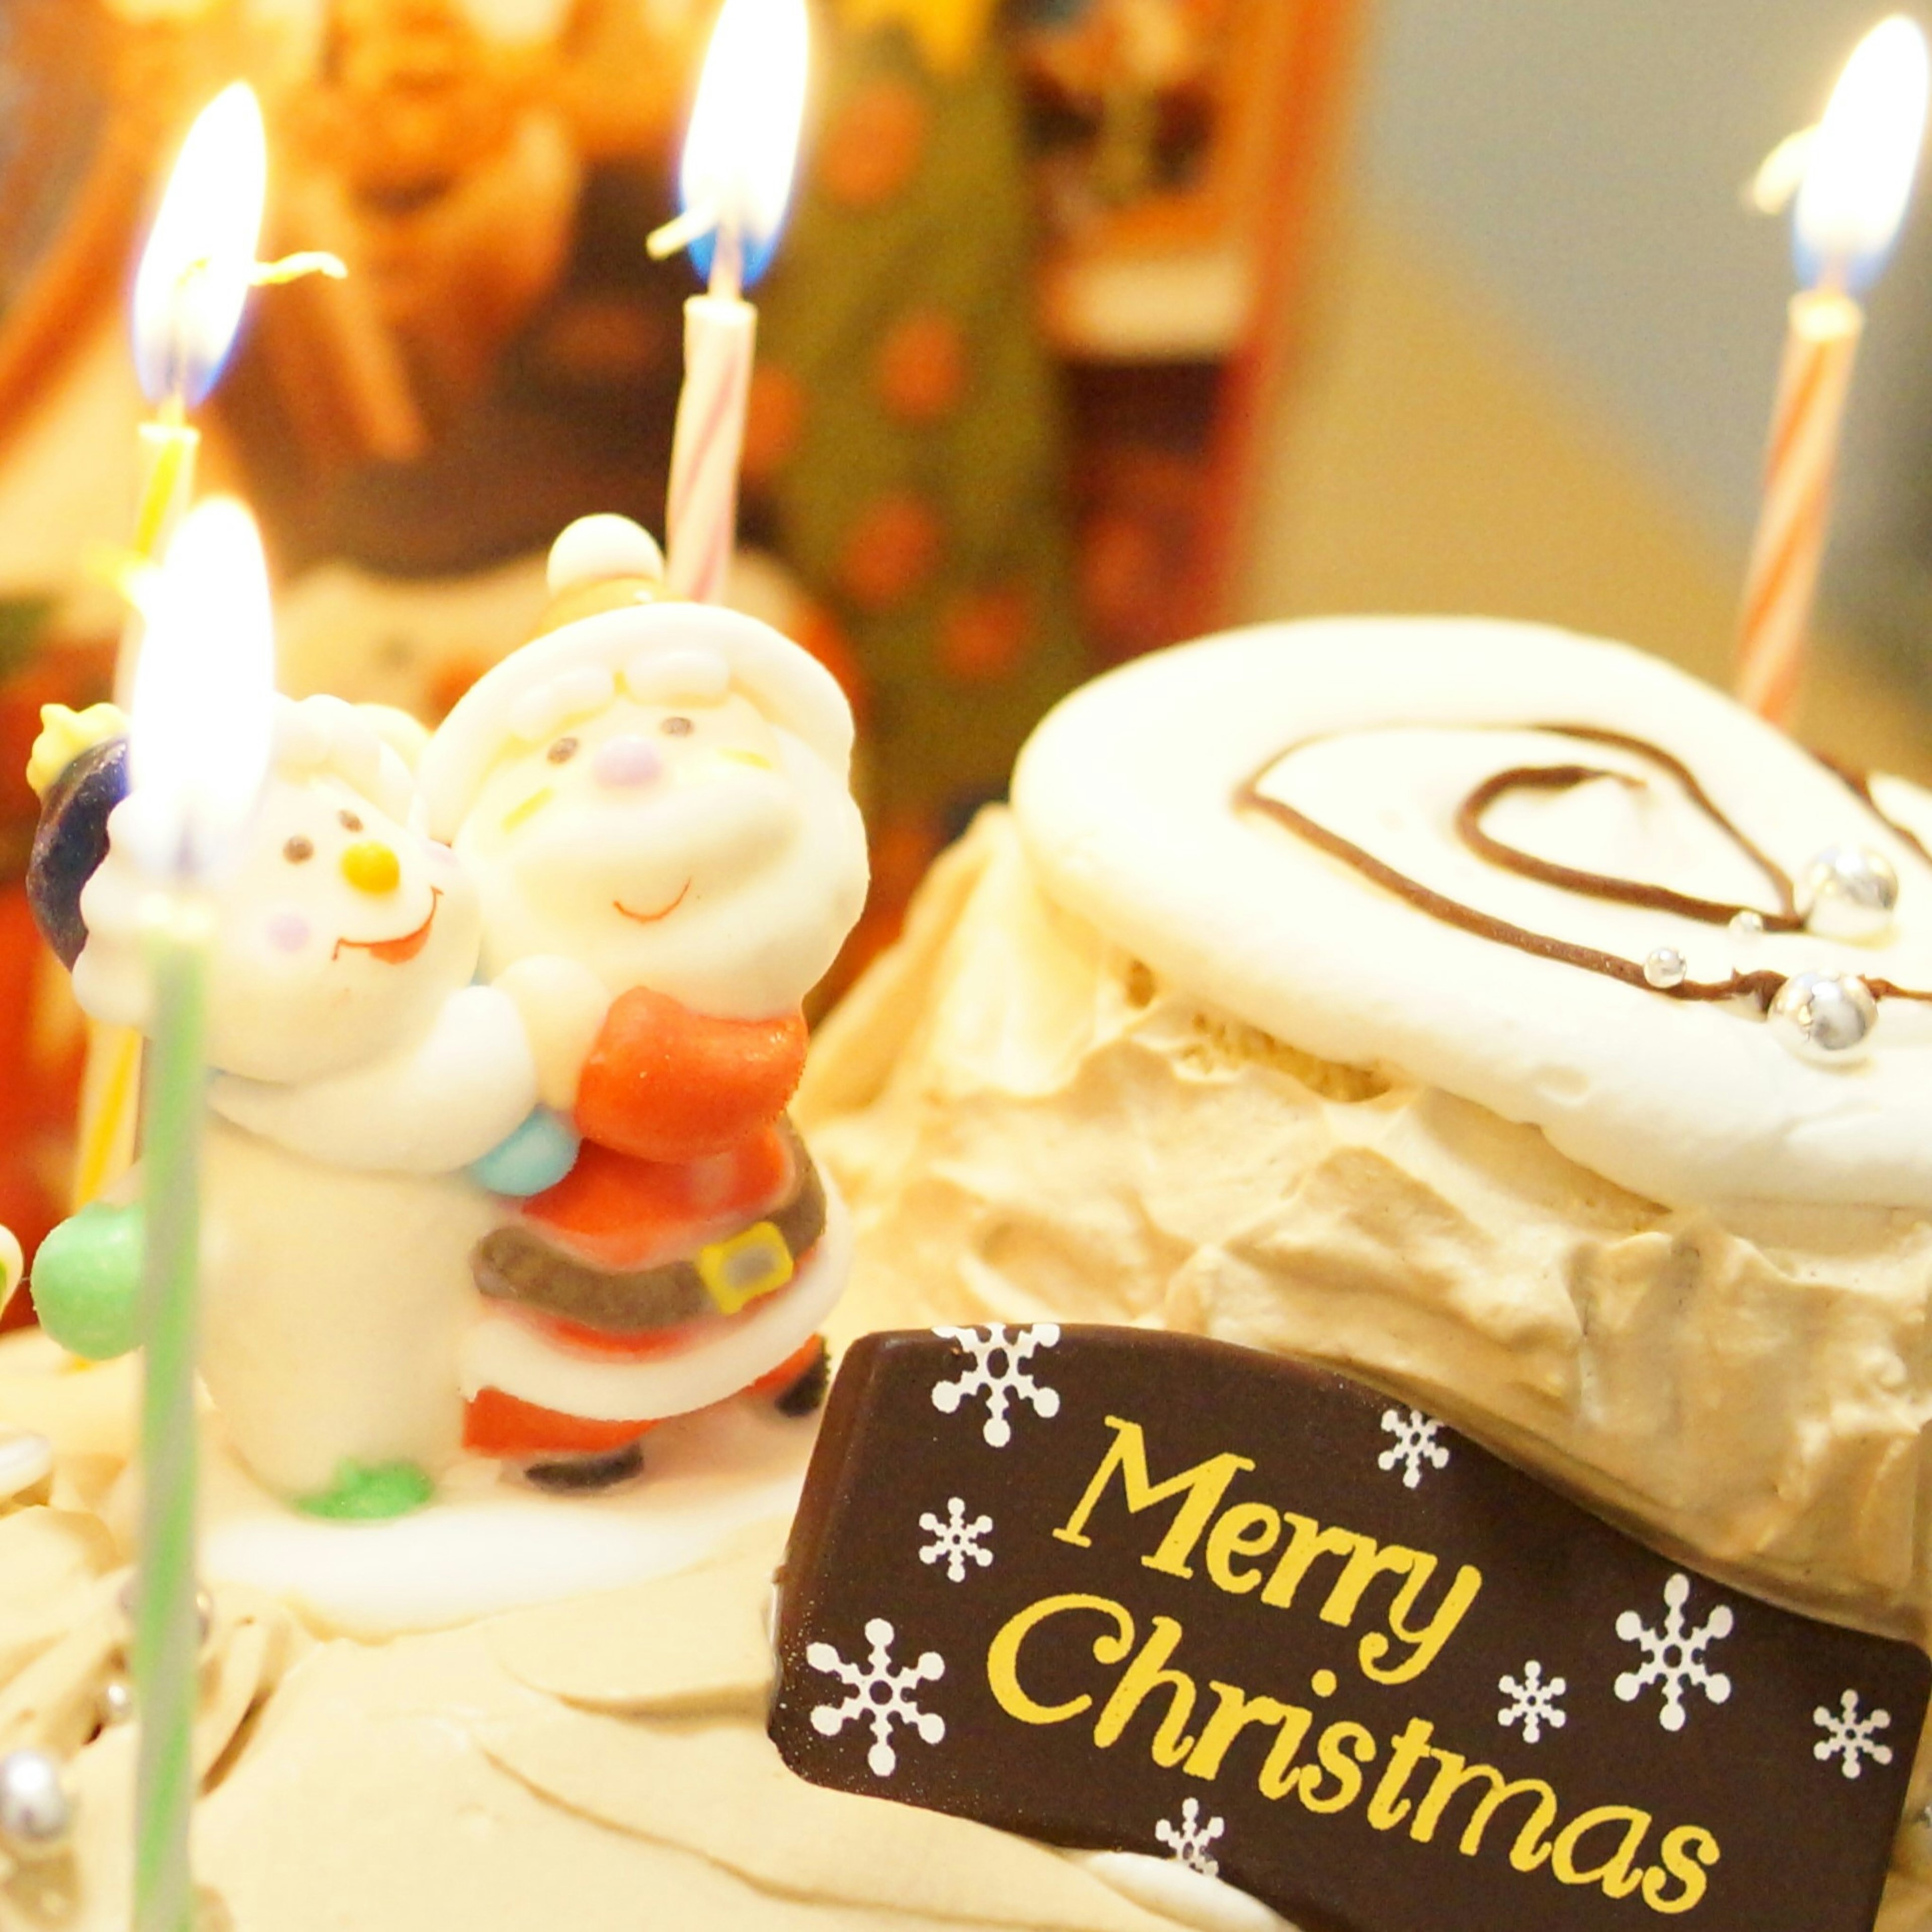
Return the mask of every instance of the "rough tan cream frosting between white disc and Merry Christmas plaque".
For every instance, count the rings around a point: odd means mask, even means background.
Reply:
[[[844,1333],[1138,1321],[1306,1354],[1745,1588],[1932,1631],[1932,1219],[1665,1208],[1536,1126],[1316,1059],[1043,889],[989,810],[802,1094]],[[1920,1758],[1882,1926],[1932,1924]]]

